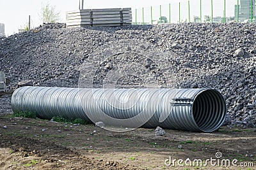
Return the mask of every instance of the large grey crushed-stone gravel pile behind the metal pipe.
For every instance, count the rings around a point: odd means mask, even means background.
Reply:
[[[151,74],[159,87],[218,89],[227,102],[225,124],[255,127],[255,24],[63,27],[65,24],[45,24],[0,39],[0,71],[11,80],[8,90],[24,80],[40,86],[77,87],[81,66],[88,59],[97,62],[95,56],[106,53],[105,45],[115,48],[120,41],[145,42],[127,46],[126,52],[134,53],[129,56],[110,49],[111,55],[100,60],[93,87],[102,87],[116,66],[138,63],[140,73],[118,78],[116,87],[150,86]],[[148,57],[154,52],[169,55],[160,54],[156,61]]]

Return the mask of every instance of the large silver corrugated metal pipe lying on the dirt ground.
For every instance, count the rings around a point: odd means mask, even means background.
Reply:
[[[40,118],[103,122],[111,131],[160,126],[213,132],[223,124],[227,112],[223,96],[213,89],[21,87],[13,92],[12,108],[35,112]]]

